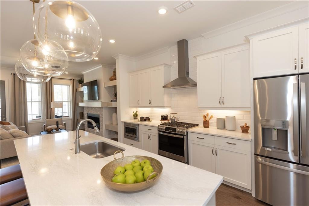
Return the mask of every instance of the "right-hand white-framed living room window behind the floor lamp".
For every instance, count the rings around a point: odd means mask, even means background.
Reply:
[[[71,90],[67,84],[53,84],[54,102],[62,102],[62,108],[55,108],[55,117],[71,116]]]

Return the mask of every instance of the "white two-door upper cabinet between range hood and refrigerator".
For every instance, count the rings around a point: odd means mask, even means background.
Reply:
[[[197,56],[199,107],[250,107],[249,46]]]

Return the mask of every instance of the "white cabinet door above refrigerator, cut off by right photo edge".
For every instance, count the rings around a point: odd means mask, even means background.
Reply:
[[[303,24],[298,27],[298,71],[309,72],[309,26]]]

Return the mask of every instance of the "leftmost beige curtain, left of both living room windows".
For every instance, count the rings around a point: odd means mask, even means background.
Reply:
[[[12,99],[10,110],[11,122],[17,127],[25,126],[28,133],[28,107],[27,107],[27,86],[26,81],[19,79],[15,74],[12,74]]]

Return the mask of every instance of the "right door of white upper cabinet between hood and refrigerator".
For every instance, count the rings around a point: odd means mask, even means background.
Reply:
[[[249,46],[221,53],[222,107],[250,107]]]

